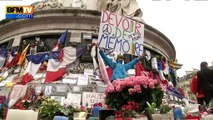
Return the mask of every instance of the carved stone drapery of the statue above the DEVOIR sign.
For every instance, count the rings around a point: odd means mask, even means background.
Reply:
[[[136,0],[98,0],[98,10],[107,10],[130,18],[141,18],[143,15]]]

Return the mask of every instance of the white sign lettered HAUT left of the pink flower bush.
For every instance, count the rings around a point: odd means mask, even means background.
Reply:
[[[83,106],[93,106],[95,103],[104,102],[104,93],[83,92]]]

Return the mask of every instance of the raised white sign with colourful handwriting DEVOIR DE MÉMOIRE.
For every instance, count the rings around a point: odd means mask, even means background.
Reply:
[[[126,17],[102,11],[98,44],[100,47],[141,56],[144,25]]]

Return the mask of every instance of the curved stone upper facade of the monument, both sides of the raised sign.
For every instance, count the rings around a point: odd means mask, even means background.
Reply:
[[[97,10],[97,0],[44,0],[33,3],[34,19],[0,21],[0,46],[19,51],[36,38],[42,41],[37,52],[50,51],[60,35],[68,30],[65,46],[70,44],[91,44],[97,39],[101,12]],[[143,23],[143,22],[141,22]],[[144,50],[151,56],[162,55],[167,60],[176,59],[175,47],[171,41],[154,27],[143,23]],[[182,65],[176,63],[177,69]]]

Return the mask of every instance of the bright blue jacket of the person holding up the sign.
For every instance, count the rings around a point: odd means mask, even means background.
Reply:
[[[100,55],[103,58],[104,62],[113,70],[111,80],[126,78],[126,71],[132,69],[138,62],[138,59],[134,59],[127,64],[122,64],[122,61],[117,61],[115,63],[112,61],[112,59],[108,58],[102,50],[100,50]]]

